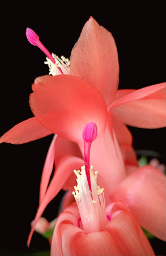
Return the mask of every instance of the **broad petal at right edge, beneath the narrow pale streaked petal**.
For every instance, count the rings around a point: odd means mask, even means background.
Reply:
[[[148,129],[165,127],[164,98],[132,101],[112,111],[126,125]]]

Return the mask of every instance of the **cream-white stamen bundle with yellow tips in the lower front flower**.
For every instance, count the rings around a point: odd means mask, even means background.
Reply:
[[[99,232],[107,224],[107,216],[105,212],[104,188],[97,185],[97,171],[93,171],[93,166],[90,168],[91,187],[88,186],[85,167],[81,168],[81,172],[74,170],[77,176],[77,187],[75,186],[76,203],[79,208],[80,218],[82,220],[83,230],[86,233]],[[92,199],[93,198],[93,199]]]

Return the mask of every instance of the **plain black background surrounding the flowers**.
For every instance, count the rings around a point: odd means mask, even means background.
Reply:
[[[120,88],[139,89],[166,81],[164,1],[158,4],[102,1],[86,3],[45,1],[44,5],[14,3],[1,10],[1,126],[0,135],[33,117],[29,108],[31,84],[48,74],[45,55],[29,44],[25,28],[32,28],[50,52],[70,57],[84,23],[92,15],[112,32],[120,62]],[[2,18],[3,17],[3,18]],[[5,17],[5,18],[4,18]],[[165,155],[165,129],[130,127],[136,150],[155,150]],[[1,246],[26,247],[30,223],[39,200],[42,167],[52,135],[23,145],[1,144]],[[46,208],[49,221],[56,217],[62,193]],[[32,247],[48,243],[33,235]]]

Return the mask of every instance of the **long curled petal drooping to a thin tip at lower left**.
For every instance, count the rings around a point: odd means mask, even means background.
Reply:
[[[39,218],[41,217],[41,214],[44,212],[44,209],[46,208],[46,205],[49,204],[49,202],[57,195],[57,193],[61,190],[63,184],[65,184],[68,177],[73,173],[73,171],[76,169],[78,170],[81,166],[83,166],[84,161],[83,159],[77,158],[75,156],[64,156],[61,159],[61,164],[57,167],[57,170],[49,184],[49,187],[46,191],[45,197],[42,200],[41,204],[39,205],[39,208],[37,210],[37,214],[35,217],[35,220],[33,222],[33,226],[31,229],[31,232],[28,237],[28,245],[31,241],[32,234],[35,229],[35,225]]]

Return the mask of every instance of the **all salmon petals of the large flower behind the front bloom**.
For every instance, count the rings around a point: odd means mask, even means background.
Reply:
[[[31,43],[36,44],[39,38],[34,35]],[[63,65],[57,67],[52,61],[61,74]],[[81,134],[88,122],[98,128],[91,162],[95,170],[101,170],[99,180],[105,188],[106,204],[123,200],[140,225],[165,240],[165,177],[150,166],[137,168],[132,136],[125,126],[165,126],[165,83],[117,90],[118,73],[112,34],[90,18],[71,52],[70,75],[38,77],[29,100],[35,117],[1,137],[0,142],[20,144],[57,134],[42,172],[40,204],[28,243],[46,205],[59,190],[69,189],[64,207],[73,196],[73,170],[83,165]],[[56,172],[48,186],[54,164]]]

